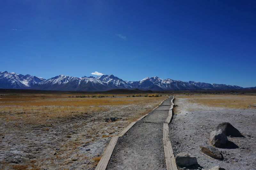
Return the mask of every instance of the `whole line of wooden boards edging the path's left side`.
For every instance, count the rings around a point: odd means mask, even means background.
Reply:
[[[166,100],[166,99],[165,99]],[[164,100],[163,100],[164,101]],[[161,102],[161,104],[163,103],[163,101]],[[160,104],[158,105],[160,106]],[[158,106],[156,106],[152,111],[154,111]],[[149,113],[148,113],[149,114]],[[106,170],[107,166],[108,166],[108,162],[109,159],[111,158],[111,155],[114,151],[114,148],[116,146],[117,140],[119,137],[122,137],[130,128],[132,128],[132,126],[137,122],[140,121],[141,119],[143,119],[144,117],[146,117],[148,114],[145,114],[144,116],[141,116],[139,119],[135,120],[134,122],[130,123],[126,128],[124,128],[122,130],[122,132],[120,132],[117,136],[113,136],[110,140],[110,142],[108,143],[108,146],[106,148],[106,151],[103,153],[100,162],[98,163],[98,165],[96,166],[95,170]],[[168,132],[169,132],[169,128],[168,128]],[[169,135],[169,134],[168,134]]]

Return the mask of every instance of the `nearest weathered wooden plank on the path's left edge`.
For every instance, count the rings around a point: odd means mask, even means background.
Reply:
[[[103,153],[100,162],[96,166],[95,170],[105,170],[108,166],[108,161],[113,153],[113,150],[116,146],[116,142],[118,140],[118,136],[113,136],[110,142],[108,143],[108,147],[106,148],[106,151]]]

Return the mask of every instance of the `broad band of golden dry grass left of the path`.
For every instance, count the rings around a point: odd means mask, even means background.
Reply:
[[[148,97],[104,97],[69,98],[60,96],[4,96],[1,98],[0,114],[5,121],[19,121],[31,124],[45,124],[47,120],[84,117],[86,114],[107,111],[105,106],[149,103]]]

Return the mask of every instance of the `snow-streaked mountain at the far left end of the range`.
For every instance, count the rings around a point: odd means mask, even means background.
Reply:
[[[1,89],[26,89],[34,84],[45,80],[41,77],[32,75],[22,75],[16,73],[9,73],[7,71],[0,72],[0,88]]]

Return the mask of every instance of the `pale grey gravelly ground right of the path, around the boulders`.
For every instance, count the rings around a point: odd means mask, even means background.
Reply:
[[[169,125],[170,139],[174,156],[188,152],[197,158],[199,168],[210,169],[219,165],[226,170],[256,169],[256,109],[233,109],[219,105],[211,107],[192,102],[193,98],[175,96],[174,115]],[[235,101],[234,101],[235,102]],[[239,101],[236,101],[239,104]],[[223,160],[204,154],[199,146],[211,145],[210,133],[221,122],[229,122],[244,137],[228,137],[233,142],[226,148],[217,148],[222,152]],[[179,167],[182,168],[182,167]],[[197,169],[196,166],[187,169]]]

